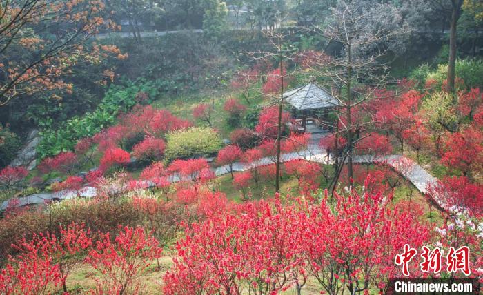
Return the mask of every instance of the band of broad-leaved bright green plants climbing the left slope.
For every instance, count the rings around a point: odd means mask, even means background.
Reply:
[[[152,100],[159,96],[161,90],[159,81],[138,80],[135,83],[129,81],[126,85],[111,85],[96,110],[83,116],[74,116],[57,128],[48,127],[40,132],[42,140],[37,146],[39,158],[73,150],[79,139],[100,132],[115,122],[119,112],[130,110],[137,103],[137,93],[146,92]]]

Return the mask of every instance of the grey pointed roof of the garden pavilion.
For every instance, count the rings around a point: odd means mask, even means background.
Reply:
[[[333,108],[339,105],[337,99],[334,99],[326,90],[312,82],[284,92],[284,100],[297,110]]]

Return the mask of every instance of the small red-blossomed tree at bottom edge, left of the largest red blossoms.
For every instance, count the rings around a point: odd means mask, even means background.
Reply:
[[[97,269],[96,292],[99,294],[139,294],[144,285],[140,276],[154,259],[161,257],[162,248],[156,238],[141,227],[123,227],[111,241],[103,234],[86,262]]]

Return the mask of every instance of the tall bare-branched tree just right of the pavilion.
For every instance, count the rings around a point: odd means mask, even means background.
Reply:
[[[404,27],[398,30],[388,28],[384,21],[388,15],[381,13],[382,9],[382,6],[371,5],[368,1],[339,0],[331,8],[326,26],[313,27],[317,34],[343,46],[339,55],[311,62],[319,76],[331,81],[331,92],[339,102],[338,122],[326,124],[335,130],[337,136],[346,139],[331,184],[332,190],[344,163],[347,163],[348,178],[353,178],[355,144],[363,138],[362,131],[374,123],[372,120],[354,121],[353,117],[355,109],[371,99],[373,92],[381,88],[388,77],[388,67],[382,62],[387,48],[379,44],[391,40],[395,34],[406,32]]]

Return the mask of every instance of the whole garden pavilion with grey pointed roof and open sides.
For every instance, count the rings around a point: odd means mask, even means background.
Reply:
[[[292,105],[293,117],[302,126],[300,132],[305,132],[307,121],[315,124],[324,121],[329,112],[339,106],[327,90],[319,87],[312,81],[306,85],[284,92],[284,101]],[[326,130],[326,125],[319,125],[319,128]]]

